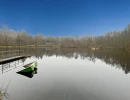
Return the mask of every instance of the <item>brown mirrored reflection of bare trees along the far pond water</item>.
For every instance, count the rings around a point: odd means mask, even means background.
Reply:
[[[29,49],[27,54],[31,54],[38,59],[43,56],[51,57],[53,55],[66,57],[68,59],[88,59],[95,62],[95,59],[100,59],[106,64],[121,68],[126,74],[130,72],[130,52],[116,49],[102,49],[99,51],[91,51],[88,49]]]

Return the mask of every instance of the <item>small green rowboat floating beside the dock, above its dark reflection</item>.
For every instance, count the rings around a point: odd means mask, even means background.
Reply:
[[[20,72],[30,72],[30,71],[33,71],[37,67],[37,65],[38,64],[37,64],[36,61],[32,62],[32,63],[29,63],[29,64],[24,66],[26,69],[21,70]]]

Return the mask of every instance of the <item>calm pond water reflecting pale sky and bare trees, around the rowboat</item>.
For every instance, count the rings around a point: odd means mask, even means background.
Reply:
[[[43,49],[29,52],[31,58],[0,65],[0,86],[9,85],[11,100],[130,100],[128,53]],[[32,78],[16,73],[33,61],[38,66]]]

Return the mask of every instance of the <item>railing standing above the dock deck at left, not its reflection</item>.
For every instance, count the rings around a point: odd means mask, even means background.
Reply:
[[[24,55],[24,50],[11,50],[11,51],[1,51],[0,52],[0,61],[3,61],[5,58],[22,56]]]

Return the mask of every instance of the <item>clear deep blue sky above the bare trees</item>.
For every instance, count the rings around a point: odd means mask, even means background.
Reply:
[[[45,36],[102,35],[130,24],[130,0],[0,0],[0,28]]]

